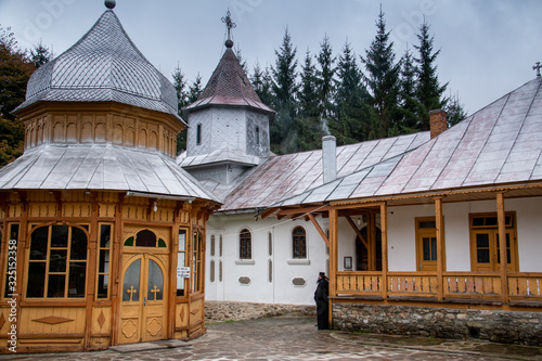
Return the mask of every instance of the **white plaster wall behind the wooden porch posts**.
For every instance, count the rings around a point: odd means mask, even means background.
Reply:
[[[542,271],[542,197],[509,198],[505,211],[515,211],[519,271]],[[470,271],[469,214],[496,212],[495,201],[444,203],[444,241],[448,271]],[[435,205],[388,208],[390,271],[414,271],[415,218],[435,217]]]

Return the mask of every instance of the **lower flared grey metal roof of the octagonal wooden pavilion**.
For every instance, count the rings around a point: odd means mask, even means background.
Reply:
[[[93,190],[219,202],[159,152],[111,145],[42,145],[0,169],[0,190]]]

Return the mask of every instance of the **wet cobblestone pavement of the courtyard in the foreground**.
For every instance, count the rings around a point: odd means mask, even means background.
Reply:
[[[119,350],[4,354],[0,360],[542,360],[542,348],[318,331],[315,320],[272,318],[211,324],[207,335],[122,346]],[[143,350],[141,350],[143,349]]]

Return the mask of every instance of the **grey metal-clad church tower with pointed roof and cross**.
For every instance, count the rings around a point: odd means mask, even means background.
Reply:
[[[201,181],[231,184],[270,155],[269,123],[275,112],[263,104],[243,70],[231,40],[196,102],[183,108],[189,123],[186,153],[180,165]]]

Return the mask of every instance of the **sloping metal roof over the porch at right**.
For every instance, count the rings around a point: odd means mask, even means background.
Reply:
[[[542,180],[542,78],[416,150],[273,207]]]

